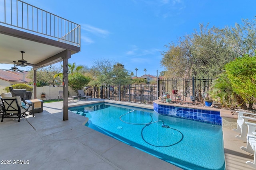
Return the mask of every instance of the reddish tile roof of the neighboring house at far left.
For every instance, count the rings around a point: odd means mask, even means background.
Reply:
[[[25,77],[26,77],[28,72],[24,71],[22,73],[22,72],[12,72],[12,71],[0,70],[0,79],[8,81],[8,82],[24,82],[24,83],[30,82],[29,78],[25,78],[23,80],[23,78],[22,78],[23,74],[25,74]]]

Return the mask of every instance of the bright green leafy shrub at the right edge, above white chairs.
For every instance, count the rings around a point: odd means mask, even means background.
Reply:
[[[225,65],[234,92],[246,101],[256,102],[256,56],[244,55]]]

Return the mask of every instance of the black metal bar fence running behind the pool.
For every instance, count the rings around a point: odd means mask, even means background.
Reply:
[[[196,96],[196,102],[202,102],[202,94],[207,93],[213,78],[166,78],[158,79],[158,84],[130,84],[116,86],[94,86],[86,88],[85,94],[93,98],[122,102],[153,104],[166,92],[172,101],[194,102],[190,96]],[[176,96],[181,96],[176,99]]]

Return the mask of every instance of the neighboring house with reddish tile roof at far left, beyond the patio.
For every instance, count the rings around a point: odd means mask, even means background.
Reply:
[[[28,84],[32,82],[29,78],[26,78],[28,72],[12,72],[0,70],[0,86],[11,86],[13,84]]]

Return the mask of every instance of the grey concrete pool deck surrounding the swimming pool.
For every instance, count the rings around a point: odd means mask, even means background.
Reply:
[[[95,102],[100,100],[75,100],[74,103],[68,102],[68,106]],[[86,117],[70,112],[69,120],[62,121],[62,107],[62,102],[46,103],[43,112],[35,113],[35,117],[21,119],[20,122],[12,119],[0,122],[0,160],[12,162],[0,164],[1,170],[181,170],[84,126]],[[246,143],[236,139],[237,134],[230,129],[223,129],[223,133],[226,169],[253,169],[245,164],[247,160],[253,161],[253,156],[240,149]],[[23,160],[26,164],[17,164],[16,160]]]

